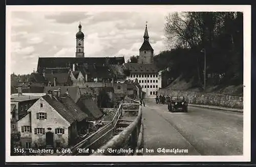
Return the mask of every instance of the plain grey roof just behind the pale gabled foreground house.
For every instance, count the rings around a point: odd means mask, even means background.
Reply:
[[[80,92],[78,89],[78,86],[72,86],[72,87],[45,87],[44,93],[48,93],[48,91],[54,91],[60,89],[61,94],[66,93],[67,90],[69,91],[69,96],[77,102],[80,98]]]

